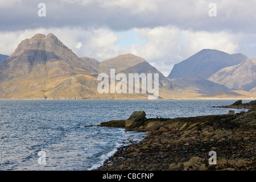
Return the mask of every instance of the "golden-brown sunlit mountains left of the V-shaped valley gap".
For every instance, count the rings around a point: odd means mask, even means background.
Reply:
[[[125,54],[102,62],[78,57],[53,34],[23,40],[0,65],[0,98],[125,99],[149,93],[100,94],[99,73],[159,73],[159,88],[170,90],[166,77],[141,57]],[[167,94],[167,92],[165,93]]]

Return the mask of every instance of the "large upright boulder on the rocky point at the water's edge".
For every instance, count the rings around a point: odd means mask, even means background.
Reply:
[[[144,111],[134,111],[133,114],[125,121],[125,129],[133,130],[139,127],[146,120],[146,113]]]

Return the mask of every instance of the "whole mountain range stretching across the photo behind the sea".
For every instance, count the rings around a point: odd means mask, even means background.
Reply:
[[[148,98],[148,92],[98,93],[97,86],[101,82],[98,75],[110,75],[112,68],[115,74],[127,76],[129,73],[158,73],[159,98],[249,98],[256,93],[255,59],[213,49],[203,49],[176,64],[168,77],[142,57],[130,53],[104,61],[78,57],[51,33],[23,40],[9,57],[0,55],[0,61],[0,98]]]

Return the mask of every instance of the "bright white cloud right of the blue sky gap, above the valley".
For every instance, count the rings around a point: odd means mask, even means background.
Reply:
[[[174,64],[187,59],[201,49],[218,49],[228,53],[238,50],[238,37],[230,32],[180,30],[177,27],[137,28],[137,34],[147,39],[142,46],[134,45],[130,52],[141,56],[168,76]]]

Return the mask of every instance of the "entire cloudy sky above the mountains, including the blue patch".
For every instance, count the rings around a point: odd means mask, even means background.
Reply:
[[[0,0],[0,53],[52,32],[77,56],[133,53],[168,76],[204,48],[256,57],[255,9],[255,0]]]

